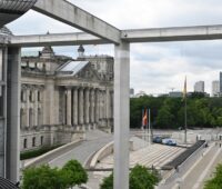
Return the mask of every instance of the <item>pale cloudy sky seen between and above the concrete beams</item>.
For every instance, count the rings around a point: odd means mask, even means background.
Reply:
[[[119,29],[222,24],[221,0],[70,0],[75,6]],[[78,31],[46,16],[29,11],[8,24],[14,34]],[[24,49],[36,51],[38,49]],[[57,53],[77,57],[77,47],[57,47]],[[111,54],[113,46],[85,47],[87,54]],[[222,71],[222,41],[189,41],[131,44],[131,87],[135,92],[164,93],[188,89],[205,81],[211,92],[212,80]]]

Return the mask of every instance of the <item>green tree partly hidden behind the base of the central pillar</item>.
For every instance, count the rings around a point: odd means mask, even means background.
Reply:
[[[159,175],[155,170],[143,166],[135,166],[130,172],[130,189],[154,189],[159,182]],[[100,189],[113,189],[113,173],[103,179]]]

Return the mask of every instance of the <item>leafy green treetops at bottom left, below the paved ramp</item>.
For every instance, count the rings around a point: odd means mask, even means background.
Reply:
[[[85,183],[88,175],[77,160],[68,161],[62,169],[47,165],[23,171],[22,189],[67,189]]]

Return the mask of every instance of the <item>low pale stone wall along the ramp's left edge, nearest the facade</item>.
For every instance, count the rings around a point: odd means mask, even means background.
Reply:
[[[32,160],[30,160],[29,162],[24,163],[22,166],[22,169],[23,168],[29,168],[29,167],[33,167],[33,166],[38,166],[38,165],[41,165],[41,163],[48,163],[50,160],[65,153],[67,151],[73,149],[74,147],[77,147],[78,145],[80,145],[83,140],[80,139],[80,140],[75,140],[75,141],[72,141],[70,143],[67,143],[62,147],[59,147],[54,150],[51,150],[40,157],[37,157]]]

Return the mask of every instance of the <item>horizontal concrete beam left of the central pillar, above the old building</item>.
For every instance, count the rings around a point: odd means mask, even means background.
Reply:
[[[108,40],[100,39],[92,34],[57,33],[57,34],[33,34],[33,36],[12,36],[9,46],[18,47],[44,47],[44,46],[77,46],[77,44],[104,44]]]

